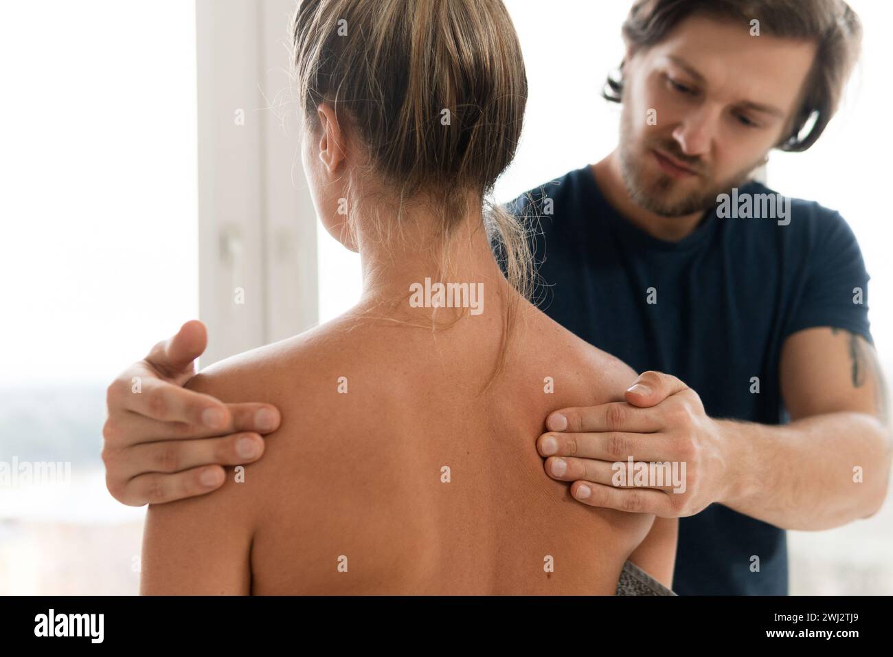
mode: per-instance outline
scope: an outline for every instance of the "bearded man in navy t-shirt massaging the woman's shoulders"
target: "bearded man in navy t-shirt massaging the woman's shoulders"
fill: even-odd
[[[622,102],[619,146],[511,207],[541,226],[543,310],[647,371],[629,403],[552,413],[538,451],[583,504],[681,518],[677,593],[785,594],[784,529],[876,512],[889,432],[853,233],[749,177],[772,147],[819,137],[859,24],[839,0],[643,0],[623,35],[606,91]],[[205,341],[184,324],[110,386],[120,501],[207,493],[278,425],[263,404],[178,387]],[[618,484],[618,461],[680,466],[682,485]]]

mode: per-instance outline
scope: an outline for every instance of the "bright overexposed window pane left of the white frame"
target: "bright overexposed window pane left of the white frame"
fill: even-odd
[[[71,464],[0,484],[0,594],[137,591],[105,388],[197,316],[195,61],[182,0],[0,8],[0,461]]]

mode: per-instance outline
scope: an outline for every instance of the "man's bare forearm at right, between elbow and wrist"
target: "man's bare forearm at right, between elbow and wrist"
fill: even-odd
[[[720,503],[784,529],[819,530],[867,518],[888,489],[887,428],[864,413],[789,425],[716,420],[730,446],[730,490]]]

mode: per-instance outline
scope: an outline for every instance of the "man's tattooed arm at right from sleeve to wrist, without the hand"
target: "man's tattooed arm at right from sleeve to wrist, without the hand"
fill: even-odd
[[[784,344],[780,378],[789,425],[718,421],[742,466],[718,501],[787,529],[828,529],[877,512],[891,442],[872,345],[842,329],[799,331]]]

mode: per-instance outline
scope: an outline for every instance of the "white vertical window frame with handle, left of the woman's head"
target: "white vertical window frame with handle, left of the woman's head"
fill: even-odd
[[[196,0],[203,366],[318,322],[316,215],[288,73],[294,11],[293,0]]]

